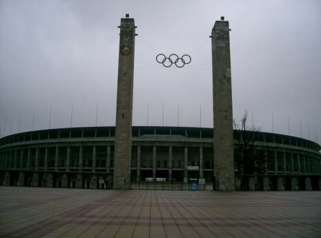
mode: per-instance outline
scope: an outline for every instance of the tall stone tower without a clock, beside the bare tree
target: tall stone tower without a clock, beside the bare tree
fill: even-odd
[[[215,189],[231,191],[234,181],[231,54],[228,21],[212,29],[214,176]]]

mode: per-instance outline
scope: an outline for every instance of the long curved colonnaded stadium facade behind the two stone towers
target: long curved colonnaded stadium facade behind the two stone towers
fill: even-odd
[[[129,188],[217,190],[213,128],[132,128]],[[287,135],[257,132],[266,172],[242,175],[235,190],[320,190],[320,145]],[[234,151],[237,154],[237,130]],[[115,127],[60,128],[0,139],[3,186],[113,188]],[[237,166],[235,166],[237,168]],[[197,179],[197,180],[196,180]]]

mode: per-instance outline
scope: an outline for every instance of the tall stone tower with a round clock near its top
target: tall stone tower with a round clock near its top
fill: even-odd
[[[135,22],[121,19],[117,82],[117,110],[114,158],[114,189],[129,189],[133,121],[133,79],[135,55]]]

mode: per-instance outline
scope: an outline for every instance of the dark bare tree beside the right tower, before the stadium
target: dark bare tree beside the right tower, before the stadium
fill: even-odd
[[[244,115],[237,123],[233,120],[235,130],[235,166],[243,175],[253,175],[255,173],[266,172],[266,152],[262,148],[262,142],[257,141],[260,127],[248,126],[249,112],[244,111]],[[269,149],[269,148],[268,148]]]

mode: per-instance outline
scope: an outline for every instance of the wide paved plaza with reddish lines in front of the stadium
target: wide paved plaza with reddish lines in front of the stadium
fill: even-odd
[[[0,237],[321,237],[321,192],[0,187]]]

